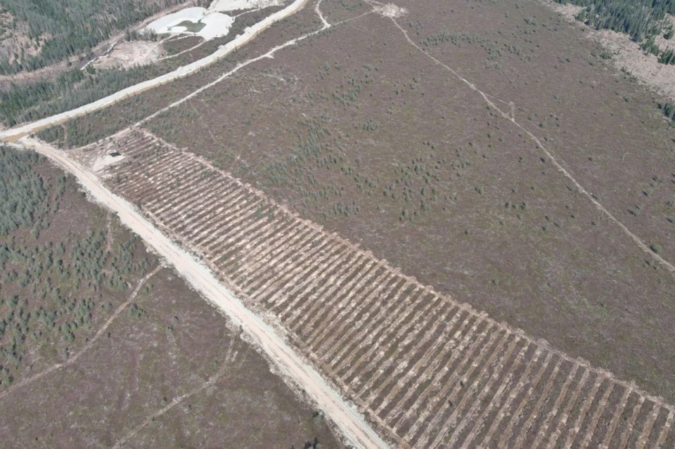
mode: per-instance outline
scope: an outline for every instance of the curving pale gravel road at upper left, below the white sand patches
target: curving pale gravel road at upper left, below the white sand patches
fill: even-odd
[[[184,65],[183,67],[179,67],[173,72],[169,72],[155,79],[148,79],[148,81],[144,81],[134,86],[127,87],[127,89],[122,89],[121,91],[113,93],[113,95],[94,101],[94,103],[89,103],[88,105],[80,106],[79,108],[75,108],[67,112],[62,112],[61,114],[53,115],[51,117],[46,117],[45,119],[37,120],[37,122],[32,122],[30,124],[17,126],[13,129],[6,129],[4,131],[0,131],[0,141],[8,141],[8,142],[16,141],[20,137],[32,134],[35,131],[39,131],[40,129],[46,128],[47,126],[63,123],[68,119],[72,119],[73,117],[78,117],[79,115],[84,115],[94,110],[105,108],[106,106],[112,105],[117,101],[124,100],[124,98],[134,96],[137,93],[147,91],[148,89],[160,86],[161,84],[165,84],[167,82],[172,82],[175,79],[186,77],[189,74],[197,72],[203,67],[211,65],[212,63],[215,63],[217,60],[224,58],[225,56],[229,55],[229,53],[232,53],[240,46],[247,44],[252,39],[255,39],[255,37],[259,34],[259,32],[262,32],[263,30],[270,27],[279,20],[285,19],[288,16],[297,13],[297,11],[300,11],[305,4],[307,4],[307,0],[293,1],[292,4],[286,6],[281,11],[277,11],[276,13],[264,18],[264,20],[257,22],[252,27],[246,28],[246,30],[244,30],[244,32],[240,34],[238,37],[236,37],[236,39],[233,39],[224,46],[221,46],[217,51],[211,53],[209,56],[202,58],[200,60],[196,60],[194,63]]]

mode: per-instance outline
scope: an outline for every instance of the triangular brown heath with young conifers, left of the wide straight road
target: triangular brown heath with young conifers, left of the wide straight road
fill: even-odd
[[[340,447],[239,328],[74,178],[5,146],[0,171],[3,446]]]

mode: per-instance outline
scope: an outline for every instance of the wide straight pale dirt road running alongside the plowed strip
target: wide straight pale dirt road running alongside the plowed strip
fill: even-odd
[[[167,263],[170,263],[195,289],[224,311],[240,325],[244,332],[259,344],[276,364],[276,367],[307,392],[330,419],[340,428],[349,442],[358,448],[387,448],[388,445],[368,425],[364,417],[349,405],[338,391],[329,386],[313,367],[286,344],[276,332],[255,313],[249,311],[214,275],[190,254],[169,240],[152,223],[143,218],[136,208],[126,200],[110,192],[98,177],[78,162],[70,160],[60,150],[32,138],[20,142],[63,167],[75,176],[92,197],[104,207],[117,212],[120,221],[138,234],[146,245],[155,249]]]

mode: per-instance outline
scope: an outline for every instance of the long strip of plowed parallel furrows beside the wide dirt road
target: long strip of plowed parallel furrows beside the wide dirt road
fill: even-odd
[[[414,448],[668,447],[660,398],[421,285],[137,129],[110,188],[203,256],[385,434]],[[96,150],[97,148],[94,148]]]

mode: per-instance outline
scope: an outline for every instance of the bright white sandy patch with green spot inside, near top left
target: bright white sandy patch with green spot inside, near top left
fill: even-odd
[[[204,24],[205,26],[198,32],[191,32],[185,26],[179,26],[183,22],[193,22],[194,24]],[[216,11],[210,11],[206,8],[185,8],[177,13],[167,14],[154,22],[151,22],[146,30],[151,30],[157,34],[193,34],[203,37],[206,40],[214,37],[226,36],[234,19],[231,16]]]

